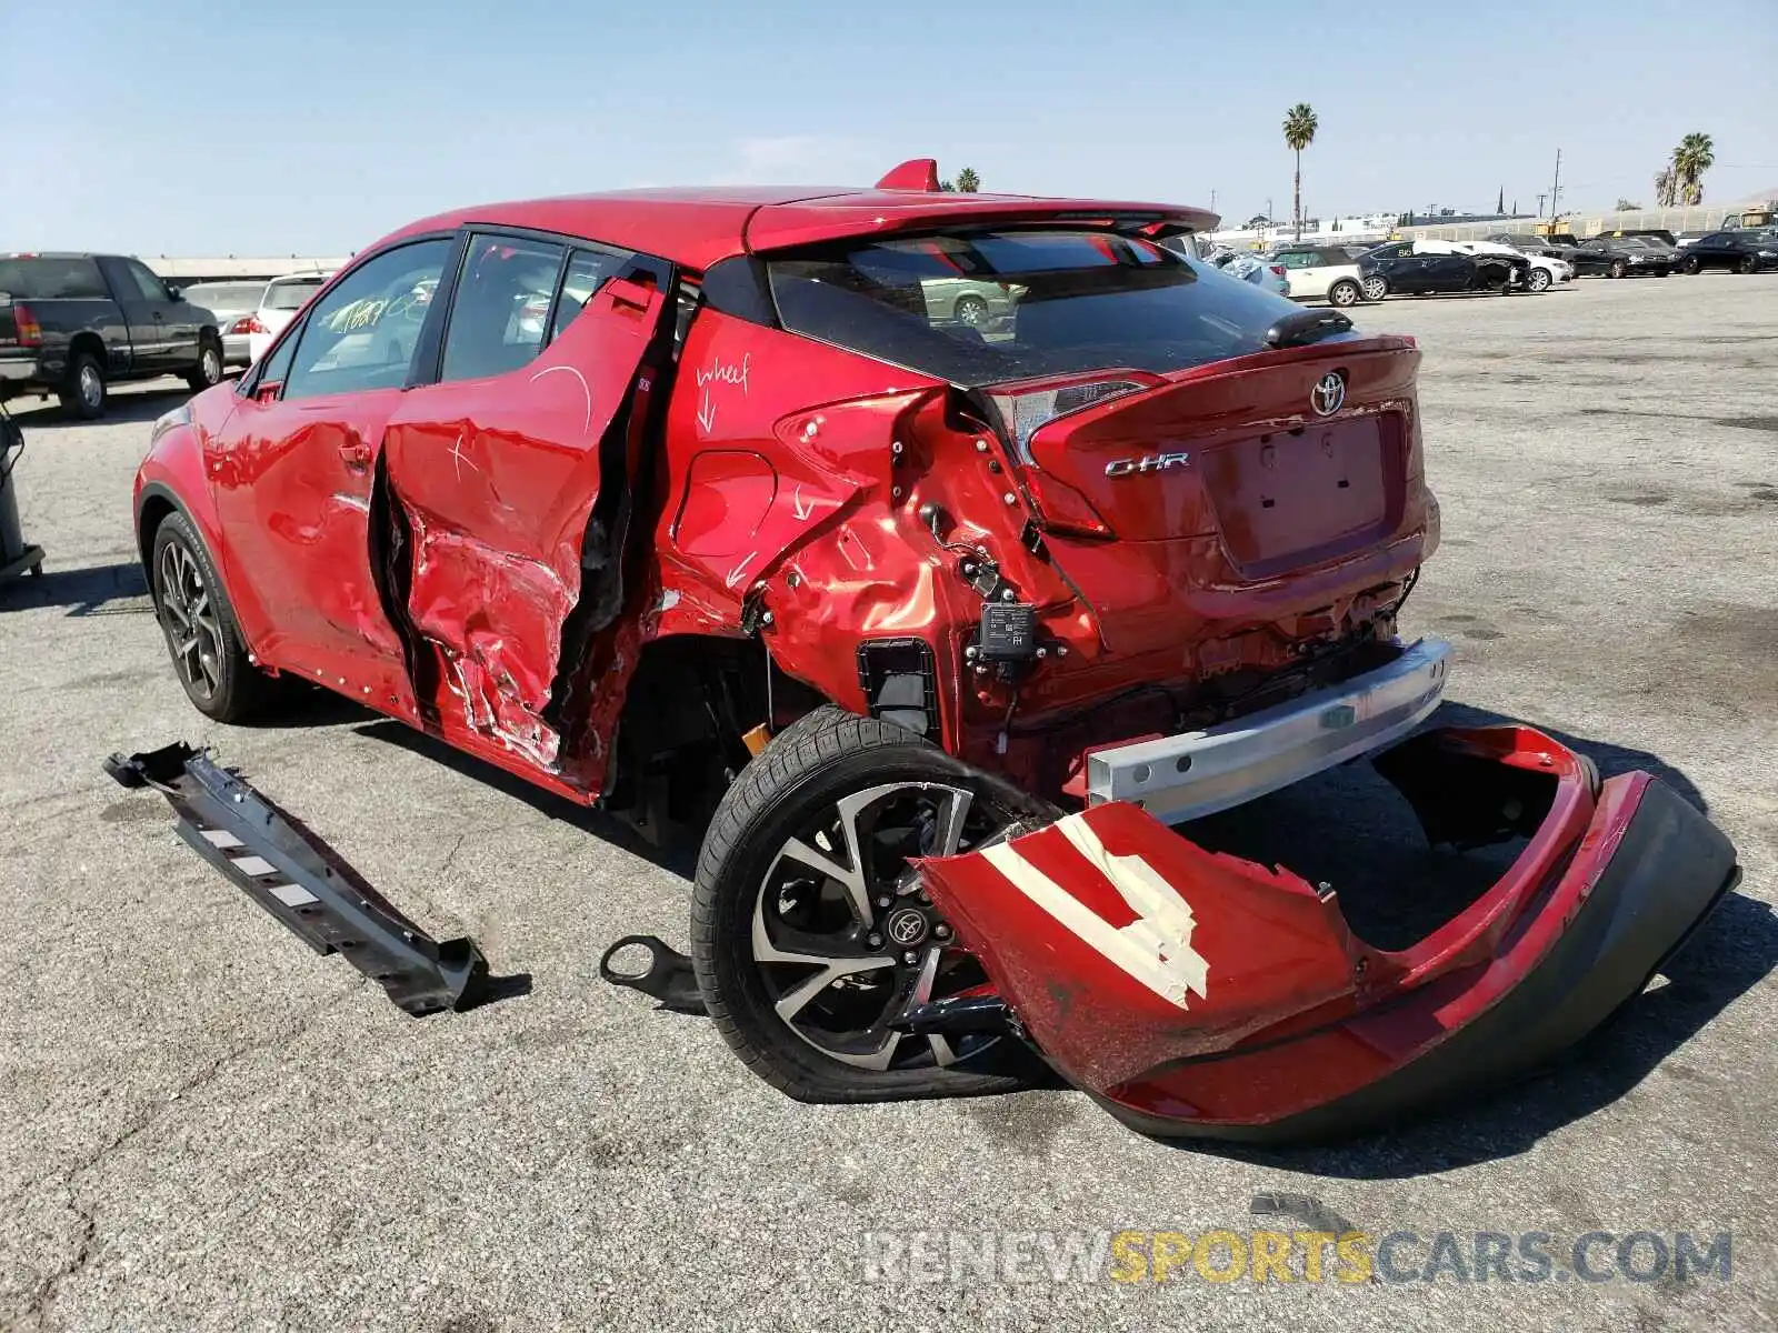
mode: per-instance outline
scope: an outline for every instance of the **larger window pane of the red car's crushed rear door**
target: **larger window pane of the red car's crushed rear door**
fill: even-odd
[[[444,331],[441,382],[505,375],[544,350],[565,245],[471,236]]]

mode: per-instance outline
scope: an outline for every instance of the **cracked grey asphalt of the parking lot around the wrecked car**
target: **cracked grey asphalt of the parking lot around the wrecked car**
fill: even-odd
[[[1275,1153],[1161,1146],[1063,1090],[789,1102],[708,1022],[597,981],[617,935],[685,940],[683,857],[626,850],[343,704],[284,729],[190,709],[128,519],[148,423],[181,395],[126,389],[101,425],[21,414],[23,523],[48,565],[0,594],[0,1322],[1771,1328],[1778,275],[1355,318],[1424,350],[1444,546],[1406,629],[1458,643],[1451,714],[1554,729],[1607,771],[1655,768],[1746,867],[1666,978],[1561,1068]],[[176,841],[158,796],[100,771],[180,738],[240,764],[434,935],[468,931],[496,970],[532,974],[532,994],[412,1020],[309,954]],[[1301,1230],[1252,1216],[1268,1193],[1419,1241],[1358,1283],[1213,1283],[1191,1262],[1118,1281],[1134,1265],[1115,1257],[1056,1281],[1017,1258],[1124,1228]],[[962,1233],[978,1262],[992,1233],[1001,1264],[953,1273],[932,1241],[871,1239],[919,1228]],[[1483,1264],[1478,1280],[1478,1230],[1515,1253],[1549,1233],[1554,1271],[1504,1281]],[[1677,1232],[1728,1232],[1732,1267],[1682,1280],[1641,1241],[1648,1281],[1595,1283],[1566,1264],[1588,1232],[1654,1232],[1670,1251]],[[1614,1246],[1595,1242],[1595,1273]],[[1437,1281],[1383,1280],[1428,1267]]]

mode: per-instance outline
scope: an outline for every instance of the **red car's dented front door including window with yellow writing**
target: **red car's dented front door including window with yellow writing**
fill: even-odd
[[[231,585],[274,666],[416,716],[404,645],[370,571],[384,428],[407,389],[453,238],[363,259],[244,384],[206,441]],[[436,338],[436,334],[434,334]]]

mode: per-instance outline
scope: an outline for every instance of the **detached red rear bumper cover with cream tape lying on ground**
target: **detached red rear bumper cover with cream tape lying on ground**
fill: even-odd
[[[1529,835],[1403,951],[1357,938],[1332,892],[1122,802],[921,873],[1070,1081],[1154,1134],[1273,1141],[1369,1129],[1545,1061],[1739,878],[1728,839],[1671,789],[1648,773],[1598,786],[1524,727],[1428,732],[1378,770],[1433,841]]]

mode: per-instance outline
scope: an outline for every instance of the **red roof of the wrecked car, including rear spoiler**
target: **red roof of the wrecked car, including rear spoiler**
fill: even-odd
[[[477,204],[421,219],[379,242],[509,226],[585,236],[704,270],[718,259],[846,236],[880,236],[946,224],[1141,220],[1166,231],[1209,231],[1200,208],[1108,199],[857,187],[702,187],[615,190]]]

